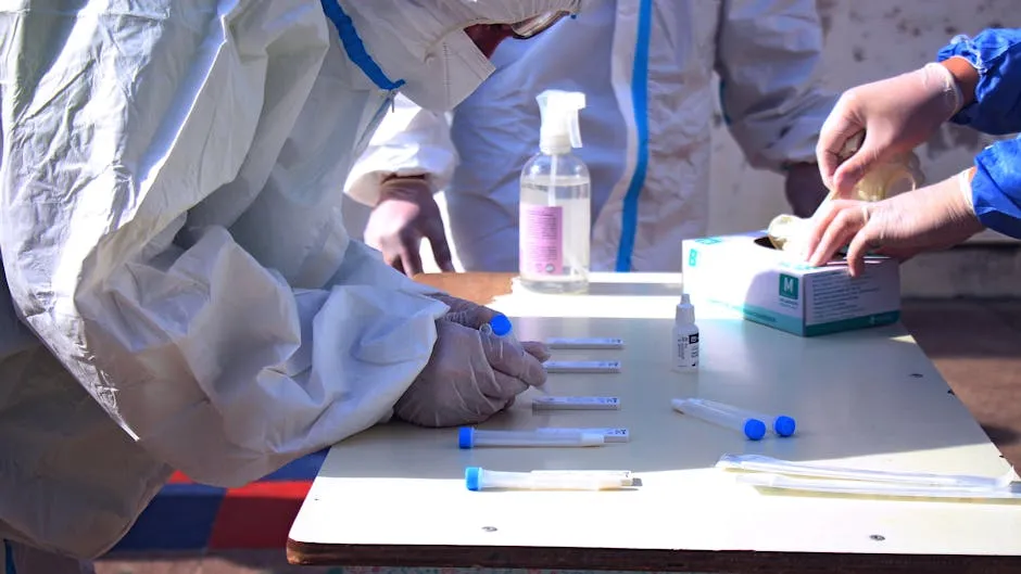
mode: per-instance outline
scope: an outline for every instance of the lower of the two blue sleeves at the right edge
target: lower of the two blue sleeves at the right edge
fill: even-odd
[[[1021,139],[998,141],[975,156],[971,199],[982,225],[1021,239]]]

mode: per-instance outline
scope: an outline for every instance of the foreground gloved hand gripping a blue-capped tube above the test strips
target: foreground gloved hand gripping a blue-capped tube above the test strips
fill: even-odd
[[[438,294],[450,305],[437,321],[432,357],[394,405],[394,416],[421,426],[480,423],[514,404],[529,386],[542,386],[550,358],[545,345],[513,341],[479,331],[496,311]]]

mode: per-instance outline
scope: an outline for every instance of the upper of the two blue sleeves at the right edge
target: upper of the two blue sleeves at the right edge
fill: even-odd
[[[950,122],[992,135],[1021,131],[1021,29],[990,28],[974,38],[956,36],[936,60],[953,56],[979,72],[975,101]]]

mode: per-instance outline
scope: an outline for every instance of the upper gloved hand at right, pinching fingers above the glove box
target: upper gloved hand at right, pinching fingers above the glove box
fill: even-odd
[[[849,197],[873,166],[917,148],[960,105],[954,75],[940,64],[847,90],[822,125],[816,145],[822,180],[836,197]],[[845,143],[861,131],[861,146],[841,163]]]

